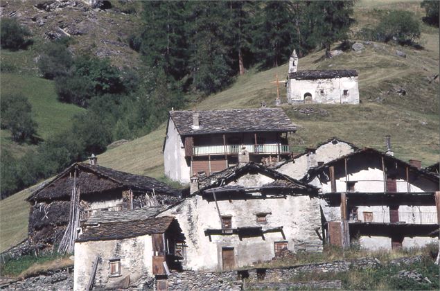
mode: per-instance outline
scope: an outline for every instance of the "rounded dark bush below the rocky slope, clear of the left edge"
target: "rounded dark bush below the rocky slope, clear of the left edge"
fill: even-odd
[[[62,42],[49,42],[38,60],[38,69],[46,79],[67,76],[73,58],[67,45]]]

